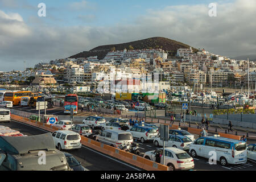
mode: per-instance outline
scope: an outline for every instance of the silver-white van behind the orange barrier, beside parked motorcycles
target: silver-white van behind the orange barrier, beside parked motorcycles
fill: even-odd
[[[100,135],[97,135],[96,141],[120,148],[122,145],[131,144],[133,135],[122,130],[104,130]]]

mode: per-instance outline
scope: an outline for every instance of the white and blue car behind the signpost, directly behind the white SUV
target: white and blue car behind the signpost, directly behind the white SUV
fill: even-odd
[[[163,140],[160,138],[155,138],[153,142],[155,146],[163,146]],[[191,143],[193,143],[193,141],[188,137],[169,135],[169,140],[168,142],[164,142],[164,146],[180,148],[181,150],[189,150],[189,145]]]

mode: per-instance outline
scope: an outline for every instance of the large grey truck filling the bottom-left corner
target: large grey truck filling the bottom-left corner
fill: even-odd
[[[55,148],[51,133],[1,136],[0,148],[0,171],[71,171],[64,153]]]

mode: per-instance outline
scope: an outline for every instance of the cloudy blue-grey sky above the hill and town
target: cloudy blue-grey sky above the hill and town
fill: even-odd
[[[218,55],[252,55],[255,17],[255,0],[0,0],[0,71],[154,36]]]

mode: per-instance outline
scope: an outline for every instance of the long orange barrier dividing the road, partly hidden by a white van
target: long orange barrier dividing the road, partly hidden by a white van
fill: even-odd
[[[60,130],[57,127],[46,125],[46,123],[30,121],[30,119],[23,118],[15,114],[11,114],[11,118],[16,121],[23,122],[31,126],[39,127],[41,129],[51,131],[51,132]],[[119,160],[123,160],[124,162],[137,166],[138,168],[146,169],[147,171],[167,171],[168,170],[168,167],[164,166],[163,164],[152,162],[151,160],[144,159],[141,156],[119,150],[118,148],[108,146],[104,143],[100,143],[95,140],[88,139],[82,136],[81,136],[81,140],[82,140],[82,144],[85,146],[93,148],[94,150],[97,150],[104,154],[113,156],[114,158],[117,158]]]

